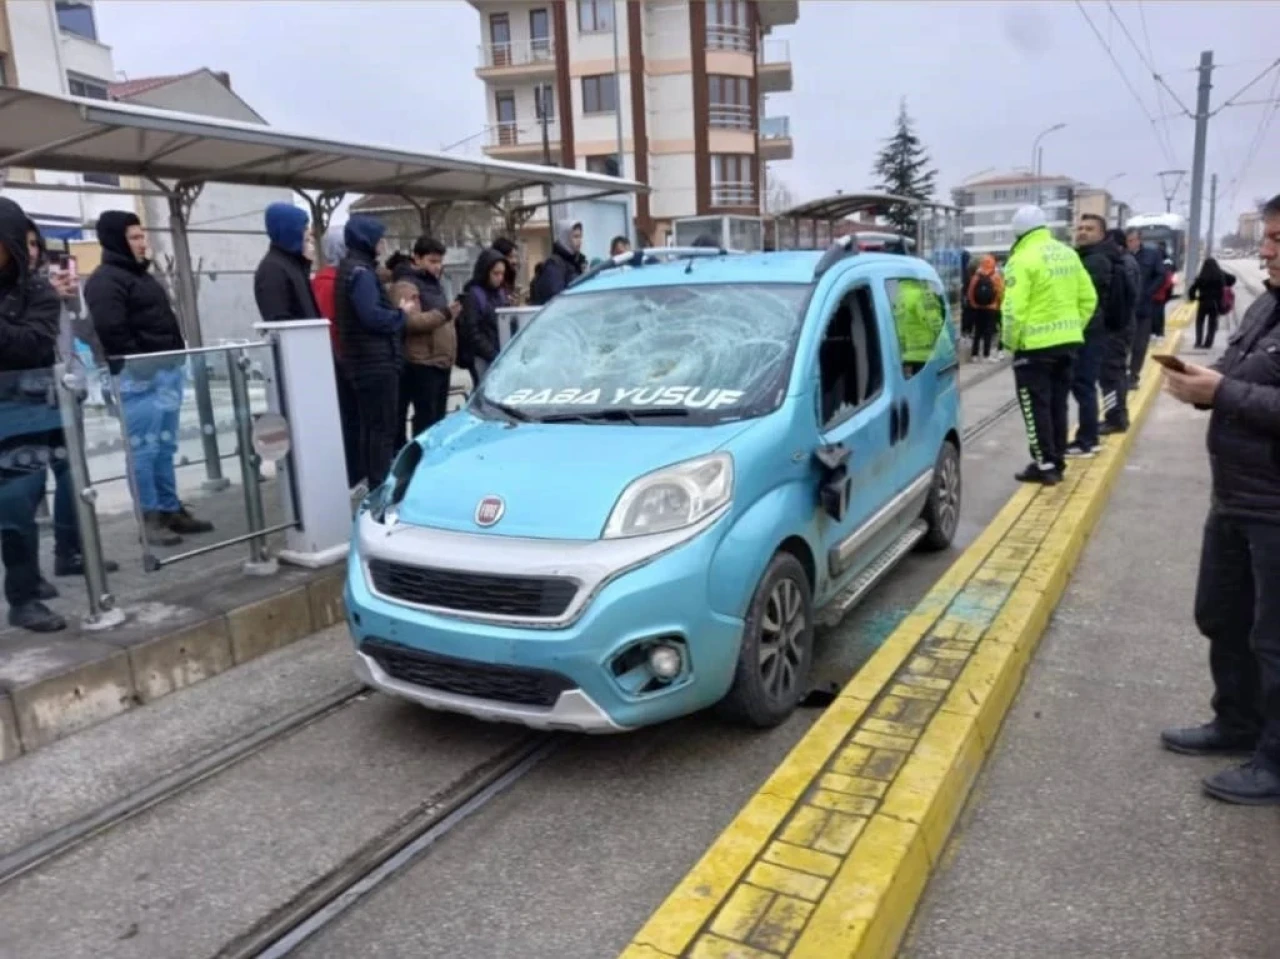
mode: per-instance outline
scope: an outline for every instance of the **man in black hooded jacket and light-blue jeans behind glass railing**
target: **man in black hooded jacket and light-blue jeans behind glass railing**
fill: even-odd
[[[111,373],[119,376],[146,540],[177,545],[184,535],[214,529],[178,499],[174,457],[186,357],[175,353],[187,344],[169,294],[151,275],[147,234],[138,218],[125,210],[108,210],[97,219],[97,242],[102,262],[84,286],[84,302]],[[154,359],[146,359],[151,355]]]

